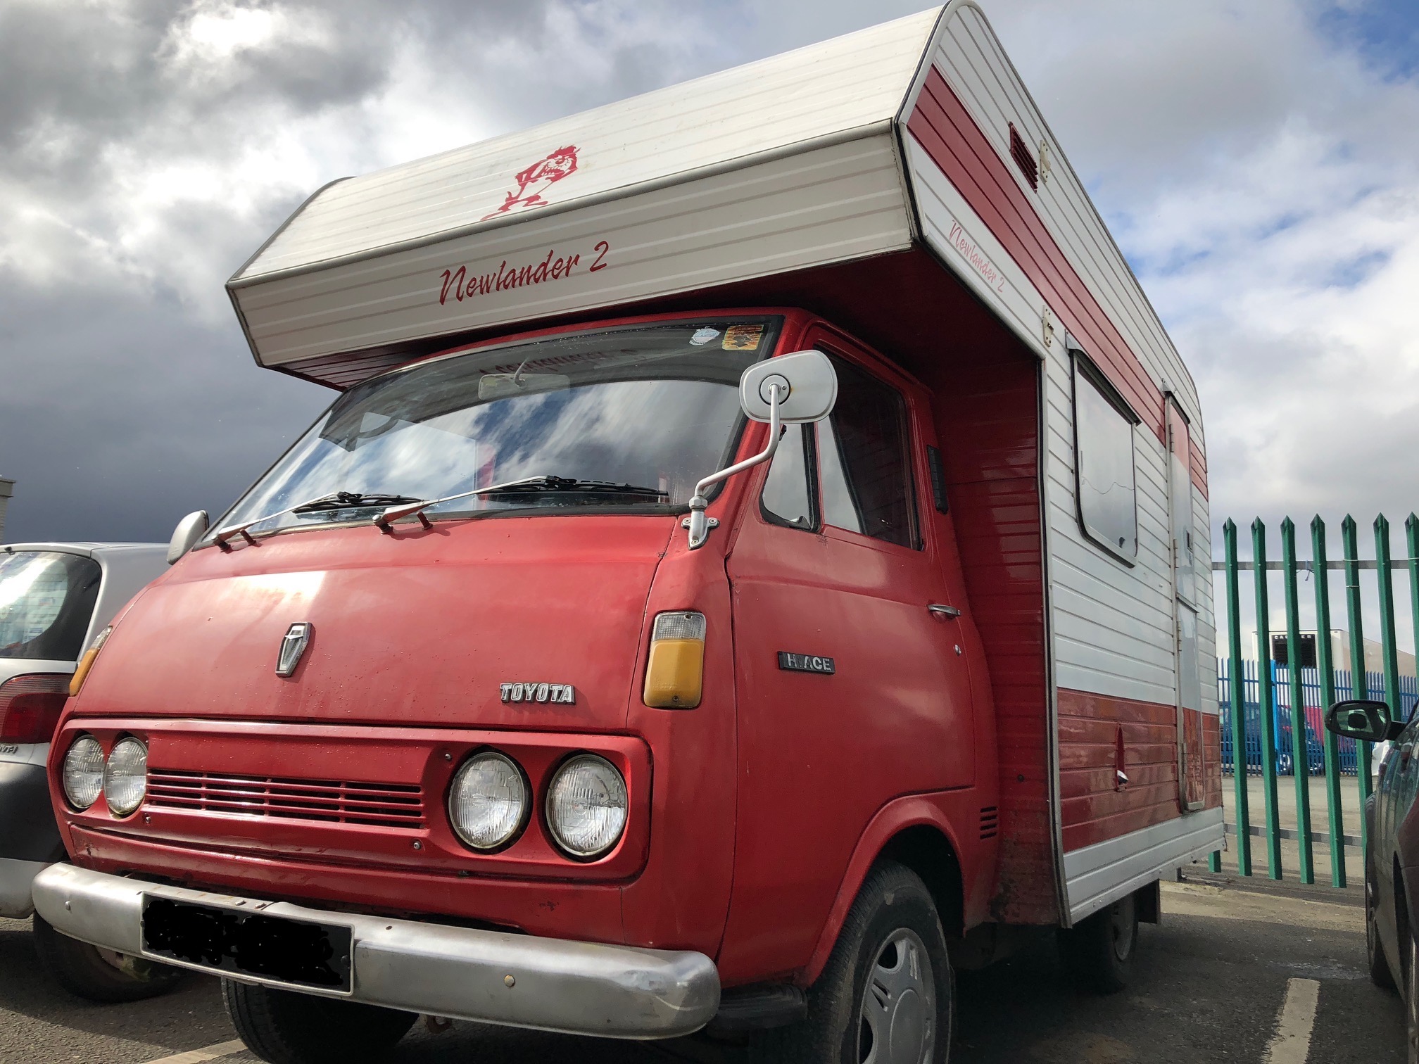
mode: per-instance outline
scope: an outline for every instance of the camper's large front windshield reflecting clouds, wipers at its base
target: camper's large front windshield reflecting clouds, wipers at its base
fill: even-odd
[[[768,316],[656,322],[387,373],[341,396],[214,532],[369,521],[397,501],[536,477],[424,514],[683,509],[732,457],[739,376],[776,329]]]

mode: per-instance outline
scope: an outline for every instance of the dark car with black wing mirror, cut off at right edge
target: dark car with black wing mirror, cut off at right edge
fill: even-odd
[[[1365,803],[1365,948],[1369,977],[1398,989],[1408,1016],[1409,1064],[1419,1064],[1419,714],[1392,721],[1386,702],[1337,702],[1325,715],[1337,735],[1391,741],[1375,793]]]

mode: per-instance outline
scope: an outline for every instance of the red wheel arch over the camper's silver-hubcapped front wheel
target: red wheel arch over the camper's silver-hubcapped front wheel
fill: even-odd
[[[951,821],[931,796],[912,794],[883,806],[857,840],[817,945],[803,969],[802,983],[810,986],[822,975],[853,901],[881,860],[898,861],[917,872],[931,891],[946,938],[959,938],[965,919],[959,854]]]

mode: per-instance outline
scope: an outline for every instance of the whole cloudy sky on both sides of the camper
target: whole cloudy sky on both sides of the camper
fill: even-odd
[[[315,187],[920,9],[0,0],[6,539],[166,539],[331,400],[223,291]],[[985,9],[1193,367],[1213,515],[1419,506],[1412,0]]]

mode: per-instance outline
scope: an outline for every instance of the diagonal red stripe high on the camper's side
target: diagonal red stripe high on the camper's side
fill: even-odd
[[[1162,392],[935,67],[927,74],[907,129],[990,227],[1144,424],[1162,440]]]

